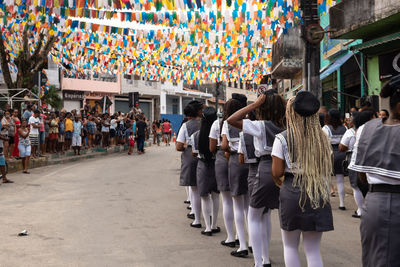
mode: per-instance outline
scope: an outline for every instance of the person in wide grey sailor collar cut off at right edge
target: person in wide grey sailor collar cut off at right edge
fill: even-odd
[[[364,267],[399,266],[400,251],[400,75],[380,93],[390,97],[389,118],[358,128],[349,169],[370,184],[361,216]]]

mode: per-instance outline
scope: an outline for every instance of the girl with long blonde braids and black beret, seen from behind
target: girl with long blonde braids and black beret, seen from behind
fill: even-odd
[[[279,215],[286,267],[300,267],[301,236],[307,265],[322,267],[322,233],[333,230],[332,148],[319,123],[319,107],[318,98],[307,91],[289,99],[287,130],[276,135],[272,147],[272,177],[281,187]]]

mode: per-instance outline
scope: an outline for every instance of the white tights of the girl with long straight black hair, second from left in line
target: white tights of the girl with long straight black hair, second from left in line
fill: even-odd
[[[206,232],[211,232],[212,229],[217,228],[217,218],[219,210],[219,194],[212,193],[201,197],[201,210],[203,211],[203,218],[206,224]]]

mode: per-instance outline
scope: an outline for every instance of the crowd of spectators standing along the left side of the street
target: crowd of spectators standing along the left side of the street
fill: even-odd
[[[126,114],[108,114],[88,106],[67,112],[30,103],[22,112],[7,104],[4,111],[0,110],[0,122],[0,171],[4,183],[12,182],[2,167],[10,160],[21,160],[23,173],[29,174],[30,158],[64,154],[71,149],[80,155],[81,149],[127,144],[132,154],[136,144],[138,154],[143,154],[151,126],[139,108]]]

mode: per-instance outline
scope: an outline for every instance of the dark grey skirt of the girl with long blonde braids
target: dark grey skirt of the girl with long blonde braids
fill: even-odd
[[[307,200],[304,211],[300,208],[300,190],[293,187],[293,176],[285,175],[285,180],[279,195],[279,215],[281,228],[286,231],[317,231],[333,230],[332,209],[329,203],[324,207],[313,209]]]

